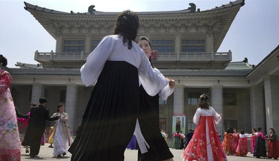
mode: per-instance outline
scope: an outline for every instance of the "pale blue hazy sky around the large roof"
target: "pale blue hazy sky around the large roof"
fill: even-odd
[[[234,0],[231,0],[234,1]],[[195,3],[200,10],[215,8],[230,1],[28,1],[48,9],[63,12],[87,12],[90,5],[97,11],[174,11]],[[34,52],[55,51],[55,39],[24,9],[24,1],[0,0],[0,54],[8,58],[8,67],[16,62],[37,64]],[[246,0],[237,13],[218,52],[232,51],[232,62],[248,58],[257,65],[279,44],[279,1]]]

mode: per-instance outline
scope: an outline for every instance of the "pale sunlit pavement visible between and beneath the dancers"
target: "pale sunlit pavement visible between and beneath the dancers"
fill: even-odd
[[[41,146],[40,149],[40,153],[38,156],[36,156],[35,158],[30,158],[30,156],[28,155],[29,153],[25,153],[25,148],[22,148],[22,155],[21,155],[21,160],[22,161],[29,161],[29,160],[44,160],[44,161],[48,161],[48,160],[56,160],[59,159],[59,161],[69,161],[71,158],[71,154],[67,153],[67,155],[63,156],[63,157],[54,157],[52,154],[53,148],[48,148],[49,144],[45,144],[44,146]],[[183,150],[176,150],[176,149],[170,149],[171,152],[174,155],[174,160],[177,161],[181,161],[182,159],[180,158]],[[137,150],[126,150],[125,151],[125,160],[124,161],[137,161],[137,154],[138,151]],[[265,160],[269,160],[271,161],[271,159],[258,159],[255,157],[252,157],[252,155],[250,153],[248,153],[248,155],[246,157],[240,157],[240,156],[228,156],[228,160],[229,161],[255,161],[255,160],[259,160],[259,161],[265,161]],[[89,160],[88,160],[89,161]],[[91,160],[90,160],[91,161]],[[101,161],[101,160],[96,160],[96,161]]]

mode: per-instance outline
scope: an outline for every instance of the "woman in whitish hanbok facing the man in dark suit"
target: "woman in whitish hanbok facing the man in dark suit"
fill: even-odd
[[[61,118],[54,121],[53,130],[53,156],[61,157],[61,155],[66,155],[69,148],[69,140],[72,143],[72,138],[70,134],[70,129],[67,124],[68,114],[64,112],[65,105],[59,104],[57,106],[57,113],[54,113],[52,117],[61,115]]]

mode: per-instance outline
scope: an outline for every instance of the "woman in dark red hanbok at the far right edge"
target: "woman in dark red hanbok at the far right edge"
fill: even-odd
[[[269,129],[269,133],[267,157],[277,159],[279,157],[279,142],[277,134],[275,133],[273,128]]]

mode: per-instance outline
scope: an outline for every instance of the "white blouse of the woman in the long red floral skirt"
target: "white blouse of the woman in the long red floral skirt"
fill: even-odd
[[[200,116],[213,116],[215,119],[215,124],[219,124],[219,122],[221,121],[221,116],[211,106],[209,107],[209,109],[202,109],[202,108],[197,109],[193,117],[193,122],[197,125],[199,124]]]

